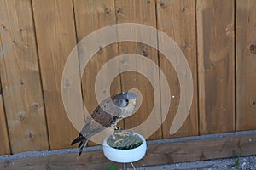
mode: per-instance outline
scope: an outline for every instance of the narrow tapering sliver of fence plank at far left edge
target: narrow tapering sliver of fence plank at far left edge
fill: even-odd
[[[0,38],[1,39],[1,38]],[[0,42],[1,44],[1,42]],[[2,48],[0,45],[0,59],[2,58]],[[0,80],[0,155],[10,154],[11,150],[9,148],[9,135],[6,123],[6,116],[3,107],[3,89]]]

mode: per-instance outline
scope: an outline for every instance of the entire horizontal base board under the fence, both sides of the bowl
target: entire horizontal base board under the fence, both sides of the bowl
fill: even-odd
[[[163,165],[183,161],[201,161],[255,154],[256,133],[222,134],[192,138],[166,139],[148,144],[146,156],[134,162],[135,167]],[[42,153],[43,154],[43,153]],[[49,156],[30,156],[20,159],[0,161],[1,169],[86,169],[108,168],[113,164],[120,168],[122,164],[108,161],[102,150],[86,151],[77,159],[76,153],[55,154]],[[128,165],[128,164],[127,164]],[[129,166],[129,165],[128,165]]]

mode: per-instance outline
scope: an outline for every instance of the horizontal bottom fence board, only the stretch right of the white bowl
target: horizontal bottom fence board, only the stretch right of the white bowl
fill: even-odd
[[[191,141],[148,145],[148,153],[137,166],[202,161],[216,158],[249,156],[255,149],[255,134],[213,137]]]

